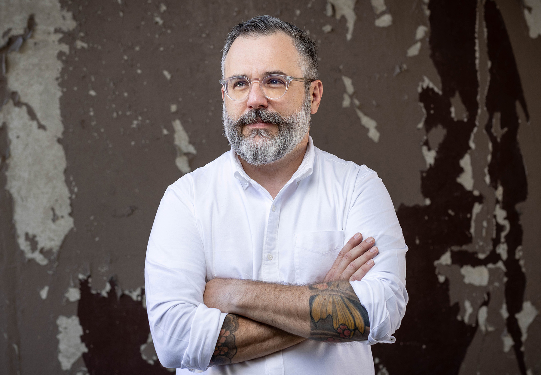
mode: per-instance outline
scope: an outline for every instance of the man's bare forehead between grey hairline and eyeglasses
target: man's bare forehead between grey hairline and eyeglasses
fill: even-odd
[[[236,38],[226,57],[226,77],[265,74],[302,75],[293,39],[282,32]]]

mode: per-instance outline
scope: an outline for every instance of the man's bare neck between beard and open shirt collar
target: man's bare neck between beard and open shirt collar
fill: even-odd
[[[291,179],[291,176],[299,169],[307,146],[308,134],[291,153],[270,164],[253,166],[240,157],[239,160],[250,179],[259,183],[274,199],[287,181]]]

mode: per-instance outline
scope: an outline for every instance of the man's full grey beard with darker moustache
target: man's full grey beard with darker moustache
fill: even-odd
[[[310,111],[311,101],[307,95],[301,109],[291,116],[282,117],[279,113],[258,108],[234,120],[229,116],[224,103],[223,130],[231,148],[242,160],[253,166],[265,165],[281,159],[299,145],[310,129]],[[278,134],[273,135],[267,129],[252,129],[250,134],[242,134],[245,125],[256,122],[278,126]]]

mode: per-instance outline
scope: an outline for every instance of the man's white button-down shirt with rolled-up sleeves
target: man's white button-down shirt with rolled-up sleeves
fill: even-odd
[[[379,248],[373,268],[351,282],[370,318],[367,341],[305,340],[208,367],[226,316],[203,304],[208,280],[318,282],[357,232],[373,236]],[[299,169],[273,199],[231,150],[169,186],[158,208],[145,265],[158,357],[177,374],[373,374],[367,344],[394,342],[406,310],[406,251],[391,198],[373,170],[321,151],[310,137]]]

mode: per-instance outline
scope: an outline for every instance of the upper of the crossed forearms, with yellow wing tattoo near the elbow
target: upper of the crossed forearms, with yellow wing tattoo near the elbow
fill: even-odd
[[[217,291],[222,294],[209,302],[210,306],[300,337],[344,342],[366,340],[370,333],[368,314],[349,281],[296,286],[251,280],[210,280],[205,294],[217,294]]]

